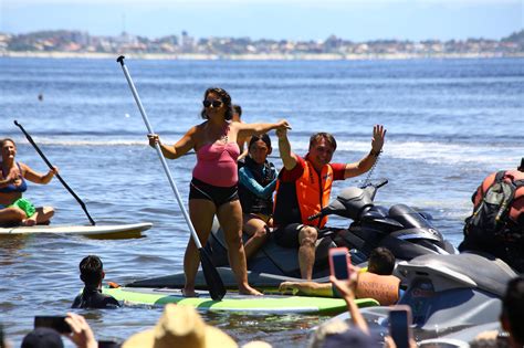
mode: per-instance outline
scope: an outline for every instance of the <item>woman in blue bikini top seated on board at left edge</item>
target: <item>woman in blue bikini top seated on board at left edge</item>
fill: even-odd
[[[17,145],[12,139],[0,141],[2,160],[0,162],[0,224],[34,225],[49,223],[54,214],[52,207],[35,208],[22,198],[28,190],[27,180],[45,184],[59,172],[56,167],[45,175],[39,173],[28,165],[15,161]]]

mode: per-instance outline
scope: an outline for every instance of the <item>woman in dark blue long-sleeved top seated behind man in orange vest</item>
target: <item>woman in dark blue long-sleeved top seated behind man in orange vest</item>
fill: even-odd
[[[239,169],[239,198],[242,205],[242,230],[250,239],[245,242],[245,257],[249,260],[268,240],[272,226],[273,191],[276,187],[276,170],[268,161],[271,154],[269,135],[252,136],[249,156]]]

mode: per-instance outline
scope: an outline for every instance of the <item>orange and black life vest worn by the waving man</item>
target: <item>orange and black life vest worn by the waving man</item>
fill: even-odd
[[[274,223],[283,225],[289,223],[303,223],[311,226],[323,228],[327,217],[322,220],[307,220],[329,203],[333,184],[333,168],[325,165],[321,175],[313,165],[304,159],[305,167],[302,176],[294,182],[276,182],[276,197],[274,205]]]

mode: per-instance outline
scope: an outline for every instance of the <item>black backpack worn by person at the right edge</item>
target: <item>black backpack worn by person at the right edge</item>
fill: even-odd
[[[524,180],[504,180],[505,171],[495,175],[493,183],[484,192],[474,208],[473,214],[465,219],[464,235],[480,243],[514,241],[523,236],[524,219],[509,219],[515,191],[524,186]],[[473,198],[480,194],[476,191]]]

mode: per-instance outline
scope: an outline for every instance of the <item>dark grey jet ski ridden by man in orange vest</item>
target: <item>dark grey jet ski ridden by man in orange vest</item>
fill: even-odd
[[[374,203],[377,190],[388,180],[370,182],[365,187],[349,187],[318,214],[338,215],[352,219],[347,229],[325,229],[321,231],[315,251],[313,281],[327,282],[329,275],[328,250],[346,246],[352,254],[352,263],[364,266],[369,253],[377,246],[389,249],[398,261],[411,260],[419,255],[455,254],[454,246],[431,224],[431,217],[418,212],[406,204],[391,207]],[[237,282],[228,263],[228,252],[222,230],[216,221],[206,251],[218,267],[228,288],[235,288]],[[277,245],[270,235],[268,242],[248,261],[248,281],[260,289],[277,288],[284,281],[300,281],[297,250]],[[136,287],[181,287],[184,273],[133,282]],[[197,288],[206,288],[201,271],[197,274]]]

